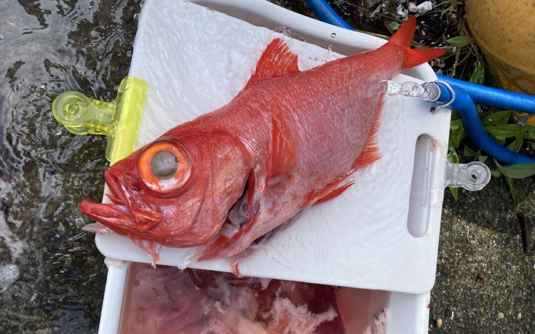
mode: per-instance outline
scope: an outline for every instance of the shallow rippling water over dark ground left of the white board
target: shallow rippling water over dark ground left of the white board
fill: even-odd
[[[0,2],[0,332],[97,327],[106,268],[78,204],[102,196],[105,138],[68,133],[51,104],[67,90],[115,97],[139,11],[135,0]]]

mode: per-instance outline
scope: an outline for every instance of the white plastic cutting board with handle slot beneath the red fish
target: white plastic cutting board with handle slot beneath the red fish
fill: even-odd
[[[263,0],[194,2],[215,10],[180,0],[147,0],[142,8],[129,72],[149,84],[138,146],[230,102],[266,45],[282,36],[269,28],[289,27],[292,35],[309,42],[285,37],[299,55],[301,70],[341,57],[326,50],[328,45],[350,54],[385,43]],[[428,65],[407,74],[436,79]],[[394,80],[420,81],[406,75]],[[431,290],[444,191],[446,157],[440,143],[447,143],[450,115],[431,114],[430,106],[417,99],[386,97],[378,133],[384,157],[357,172],[355,185],[341,197],[311,208],[242,262],[241,273],[410,293]],[[415,164],[415,143],[422,134],[438,142],[429,144],[429,137],[418,141],[422,150]],[[418,172],[411,190],[413,166]],[[408,221],[413,234],[423,236],[412,236]],[[97,235],[96,244],[106,257],[151,262],[130,239],[113,233]],[[186,254],[187,249],[163,247],[159,263],[180,265]],[[221,259],[190,267],[230,271],[227,260]]]

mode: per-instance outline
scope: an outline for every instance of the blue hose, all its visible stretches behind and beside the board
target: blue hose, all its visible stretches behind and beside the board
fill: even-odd
[[[305,0],[305,3],[316,14],[318,19],[334,26],[354,30],[325,0]],[[485,151],[489,156],[505,162],[505,164],[535,163],[535,159],[522,156],[522,154],[513,152],[494,142],[483,128],[474,104],[474,102],[477,102],[535,114],[535,96],[485,87],[441,74],[437,74],[437,77],[439,80],[449,83],[455,91],[456,98],[451,107],[458,111],[468,135],[480,149]],[[446,103],[451,99],[452,95],[444,85],[438,84],[441,88],[438,102]]]

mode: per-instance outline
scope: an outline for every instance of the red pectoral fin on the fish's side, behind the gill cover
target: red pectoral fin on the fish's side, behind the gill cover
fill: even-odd
[[[267,161],[268,179],[288,174],[297,162],[297,142],[292,131],[289,112],[283,102],[274,98],[271,106],[271,154]]]

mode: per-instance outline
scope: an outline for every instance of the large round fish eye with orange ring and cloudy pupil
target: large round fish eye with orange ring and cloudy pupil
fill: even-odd
[[[141,153],[137,161],[141,179],[152,190],[170,192],[189,179],[191,164],[187,153],[172,143],[156,143]]]

